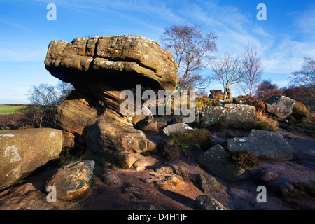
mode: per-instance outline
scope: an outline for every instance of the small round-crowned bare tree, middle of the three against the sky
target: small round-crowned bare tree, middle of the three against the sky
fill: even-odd
[[[218,58],[212,65],[214,80],[218,80],[224,89],[224,100],[227,97],[228,89],[244,78],[244,64],[241,56],[233,56],[230,52],[225,52],[224,56]]]

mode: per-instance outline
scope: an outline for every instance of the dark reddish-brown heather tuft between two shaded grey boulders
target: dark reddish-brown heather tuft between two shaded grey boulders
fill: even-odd
[[[234,163],[237,167],[246,169],[257,165],[257,157],[250,151],[233,151],[225,155],[227,160]]]

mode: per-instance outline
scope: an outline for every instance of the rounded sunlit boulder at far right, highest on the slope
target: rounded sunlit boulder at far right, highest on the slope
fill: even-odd
[[[281,95],[274,95],[265,101],[266,110],[281,119],[290,116],[294,104],[294,99]]]

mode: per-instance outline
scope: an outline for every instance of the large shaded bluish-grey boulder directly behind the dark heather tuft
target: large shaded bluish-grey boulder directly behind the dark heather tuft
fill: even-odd
[[[293,159],[293,148],[279,132],[251,130],[248,137],[228,139],[229,151],[251,151],[258,158],[274,161]]]

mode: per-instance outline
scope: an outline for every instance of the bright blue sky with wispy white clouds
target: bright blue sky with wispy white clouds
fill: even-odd
[[[55,3],[57,20],[48,21],[48,3]],[[267,20],[258,21],[258,3],[267,6]],[[133,34],[160,43],[165,27],[198,24],[214,31],[218,53],[239,54],[251,41],[267,66],[262,79],[279,87],[304,57],[315,58],[315,1],[216,0],[0,0],[0,104],[23,104],[33,85],[55,85],[44,60],[52,40]],[[210,72],[210,70],[205,70]],[[210,89],[222,89],[211,83]],[[233,94],[239,94],[232,89]]]

